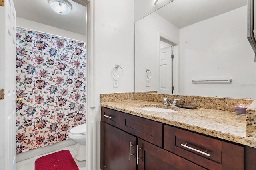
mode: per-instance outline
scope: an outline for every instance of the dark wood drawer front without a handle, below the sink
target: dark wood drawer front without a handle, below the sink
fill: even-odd
[[[120,129],[159,147],[163,145],[162,123],[123,113]]]

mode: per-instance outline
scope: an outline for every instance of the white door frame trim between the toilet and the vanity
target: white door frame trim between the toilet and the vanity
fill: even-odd
[[[95,104],[95,1],[87,3],[86,51],[86,170],[96,170],[96,104]]]

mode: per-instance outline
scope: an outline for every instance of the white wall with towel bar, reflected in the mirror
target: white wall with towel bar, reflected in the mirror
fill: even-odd
[[[243,6],[180,29],[180,94],[255,98],[256,63],[246,26]],[[232,83],[192,83],[221,77],[232,78]]]

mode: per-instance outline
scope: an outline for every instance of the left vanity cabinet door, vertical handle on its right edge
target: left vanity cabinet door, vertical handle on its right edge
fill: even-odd
[[[136,137],[101,121],[102,170],[136,170]]]

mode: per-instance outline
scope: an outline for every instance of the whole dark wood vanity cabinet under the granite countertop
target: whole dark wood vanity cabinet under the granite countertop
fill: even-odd
[[[102,107],[102,170],[253,170],[256,150]]]

